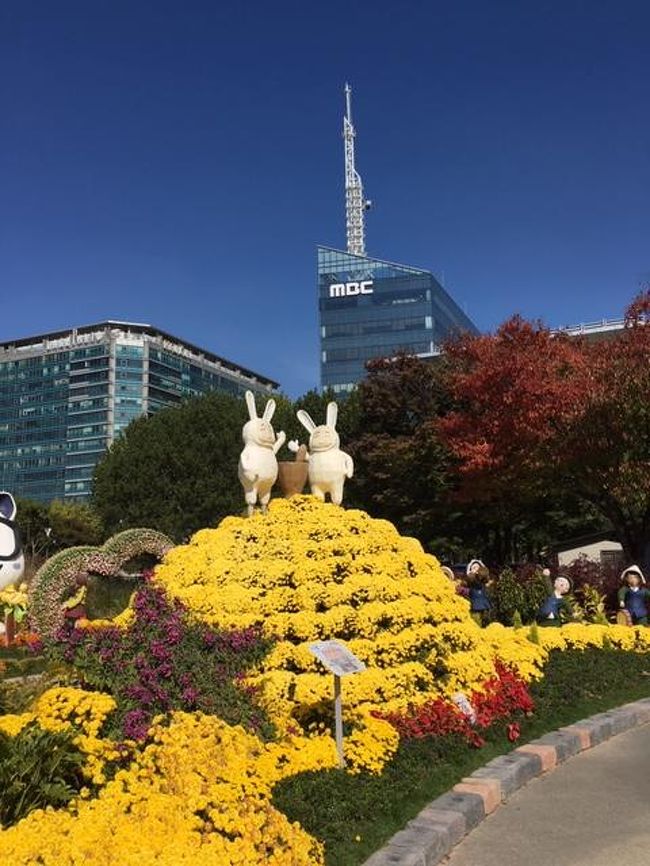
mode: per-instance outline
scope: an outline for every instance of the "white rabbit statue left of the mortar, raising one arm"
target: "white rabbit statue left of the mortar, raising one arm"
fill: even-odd
[[[257,417],[255,397],[252,391],[246,391],[246,405],[250,420],[244,424],[242,430],[244,450],[239,457],[237,474],[244,488],[244,497],[250,516],[258,500],[262,506],[262,511],[266,511],[266,506],[271,498],[271,488],[278,477],[278,461],[275,455],[284,444],[286,435],[283,431],[278,434],[276,439],[273,427],[271,427],[271,418],[275,412],[275,400],[267,400],[261,418]]]

